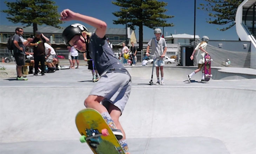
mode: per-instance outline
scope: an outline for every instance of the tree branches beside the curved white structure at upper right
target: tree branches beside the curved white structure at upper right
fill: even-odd
[[[209,18],[206,22],[216,25],[227,25],[221,31],[225,31],[235,25],[236,10],[242,0],[205,0],[207,4],[200,4],[198,9],[208,11]]]

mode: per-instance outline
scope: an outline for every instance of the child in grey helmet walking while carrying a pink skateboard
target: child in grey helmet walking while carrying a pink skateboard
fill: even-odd
[[[193,71],[192,73],[190,73],[189,75],[187,75],[188,78],[188,82],[190,83],[190,79],[193,75],[195,75],[197,72],[201,71],[202,67],[204,66],[204,56],[207,54],[208,52],[206,51],[206,46],[207,46],[207,42],[209,41],[209,38],[207,36],[203,36],[202,37],[202,42],[197,44],[196,48],[194,49],[192,55],[190,56],[190,59],[193,60],[194,59],[194,55],[195,52],[197,51],[197,55],[196,55],[196,61],[197,61],[197,66],[198,68]],[[204,69],[203,69],[203,73],[202,73],[202,79],[201,82],[204,81]]]

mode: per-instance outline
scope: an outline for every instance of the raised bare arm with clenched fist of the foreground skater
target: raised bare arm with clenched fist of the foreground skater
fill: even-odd
[[[100,38],[103,38],[106,34],[107,24],[102,20],[99,20],[90,16],[82,15],[79,13],[75,13],[69,9],[63,10],[60,13],[60,15],[61,15],[60,20],[62,21],[78,20],[78,21],[85,22],[90,26],[95,27],[96,28],[95,33]]]

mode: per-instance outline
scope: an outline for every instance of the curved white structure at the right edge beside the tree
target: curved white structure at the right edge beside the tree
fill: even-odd
[[[256,69],[256,40],[255,37],[248,30],[247,26],[243,23],[243,8],[249,8],[255,0],[244,0],[237,8],[236,11],[236,33],[241,41],[251,41],[251,68]]]

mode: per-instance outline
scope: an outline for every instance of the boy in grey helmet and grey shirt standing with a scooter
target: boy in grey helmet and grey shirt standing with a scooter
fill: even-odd
[[[167,45],[166,45],[166,41],[164,38],[161,37],[162,34],[162,30],[160,28],[156,28],[154,30],[154,34],[156,37],[152,38],[149,42],[148,42],[148,47],[147,47],[147,56],[149,56],[149,47],[152,48],[151,50],[151,54],[155,56],[156,60],[155,60],[155,66],[156,66],[156,77],[157,77],[157,82],[158,84],[160,84],[160,80],[159,80],[159,67],[160,67],[160,71],[161,71],[161,85],[164,85],[163,82],[163,66],[164,66],[164,56],[166,54],[166,50],[167,50]]]

